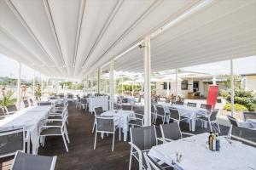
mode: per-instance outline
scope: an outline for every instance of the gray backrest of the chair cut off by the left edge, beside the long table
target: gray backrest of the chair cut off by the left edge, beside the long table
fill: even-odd
[[[0,158],[15,155],[17,150],[25,150],[25,132],[16,128],[0,132]]]

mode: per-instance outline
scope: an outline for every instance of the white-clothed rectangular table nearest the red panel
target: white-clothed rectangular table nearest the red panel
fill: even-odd
[[[169,108],[176,108],[179,114],[182,116],[188,117],[190,122],[191,122],[191,131],[195,131],[195,122],[196,122],[196,116],[197,115],[206,115],[207,110],[198,108],[198,107],[190,107],[187,105],[171,105],[171,104],[157,104],[157,105],[162,105],[165,109],[165,111],[169,112]]]

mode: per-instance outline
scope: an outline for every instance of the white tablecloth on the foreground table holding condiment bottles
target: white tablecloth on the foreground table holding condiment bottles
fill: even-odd
[[[256,169],[256,148],[226,139],[220,140],[220,151],[207,149],[208,133],[154,146],[148,155],[172,165],[176,153],[182,154],[179,165],[184,170]],[[250,168],[251,167],[251,168]]]

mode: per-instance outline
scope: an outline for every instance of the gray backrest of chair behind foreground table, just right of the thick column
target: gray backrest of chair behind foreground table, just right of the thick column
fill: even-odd
[[[182,133],[177,122],[160,125],[163,139],[177,140],[182,138]]]

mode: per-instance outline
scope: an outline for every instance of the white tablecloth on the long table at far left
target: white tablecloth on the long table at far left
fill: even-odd
[[[44,125],[49,115],[51,105],[29,107],[17,111],[14,115],[0,120],[0,130],[8,130],[16,127],[24,127],[30,133],[32,141],[32,153],[36,153],[38,147],[38,131]]]

